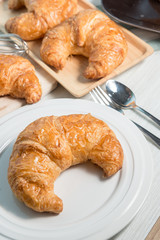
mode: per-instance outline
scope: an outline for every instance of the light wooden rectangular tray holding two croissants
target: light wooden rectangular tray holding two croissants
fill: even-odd
[[[79,10],[95,8],[94,5],[85,0],[78,1]],[[4,26],[5,22],[15,15],[19,15],[25,9],[19,11],[11,11],[7,7],[7,1],[0,4],[0,24]],[[41,40],[28,42],[29,56],[33,58],[41,67],[43,67],[57,82],[66,88],[73,96],[81,97],[86,95],[91,89],[103,84],[106,80],[126,71],[135,64],[139,63],[147,56],[153,53],[150,45],[142,41],[140,38],[122,28],[128,42],[128,55],[125,61],[116,68],[111,74],[100,80],[88,80],[83,77],[83,72],[88,65],[87,58],[83,56],[72,56],[68,59],[65,68],[56,71],[54,68],[47,66],[40,58]]]

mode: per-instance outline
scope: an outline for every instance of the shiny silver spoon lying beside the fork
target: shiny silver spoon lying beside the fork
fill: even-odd
[[[109,80],[106,83],[106,91],[110,99],[121,108],[137,109],[140,112],[146,114],[154,122],[160,126],[160,120],[151,115],[149,112],[143,108],[137,106],[136,97],[134,93],[124,84],[117,82],[115,80]]]

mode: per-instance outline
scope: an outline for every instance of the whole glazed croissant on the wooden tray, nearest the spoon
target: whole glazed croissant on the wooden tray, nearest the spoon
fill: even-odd
[[[127,43],[113,21],[104,13],[89,9],[49,30],[43,39],[41,57],[56,69],[62,69],[72,54],[89,57],[84,76],[98,79],[123,62]]]

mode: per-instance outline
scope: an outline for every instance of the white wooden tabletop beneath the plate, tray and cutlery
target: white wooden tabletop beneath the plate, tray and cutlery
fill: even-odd
[[[99,0],[90,0],[100,7]],[[139,29],[131,31],[140,38],[151,44],[155,52],[146,60],[119,75],[115,79],[129,86],[137,97],[137,104],[160,119],[160,34],[151,33]],[[104,88],[104,86],[102,86]],[[45,96],[43,100],[54,98],[74,98],[62,86],[58,87]],[[92,100],[90,94],[83,99]],[[140,125],[160,137],[160,128],[153,124],[142,114],[134,113],[131,110],[125,111],[126,116],[135,120]],[[0,120],[1,122],[1,120]],[[148,141],[149,142],[149,141]],[[160,216],[160,151],[149,142],[154,161],[154,177],[150,193],[133,221],[112,239],[115,240],[144,240]],[[160,239],[160,221],[148,235],[147,240]],[[7,239],[0,235],[0,239]]]

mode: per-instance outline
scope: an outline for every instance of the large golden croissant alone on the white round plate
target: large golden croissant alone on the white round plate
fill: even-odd
[[[60,213],[63,203],[53,191],[55,179],[70,166],[87,160],[100,166],[106,176],[122,167],[122,147],[106,123],[90,114],[43,117],[18,136],[8,181],[28,207]]]

